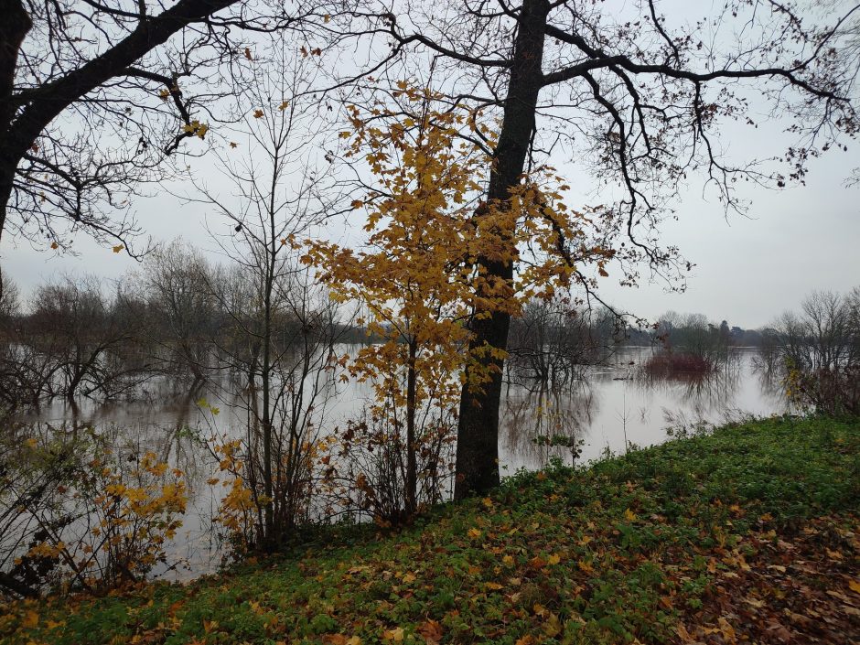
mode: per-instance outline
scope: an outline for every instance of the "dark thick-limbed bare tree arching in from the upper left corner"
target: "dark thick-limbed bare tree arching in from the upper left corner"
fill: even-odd
[[[138,231],[129,208],[141,185],[166,177],[163,162],[183,142],[231,118],[219,99],[253,81],[254,41],[288,32],[296,49],[326,48],[348,9],[349,0],[289,9],[274,0],[4,0],[0,235],[65,247],[84,229],[123,242]]]

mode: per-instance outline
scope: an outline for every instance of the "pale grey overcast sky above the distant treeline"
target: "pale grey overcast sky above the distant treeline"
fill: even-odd
[[[732,126],[725,129],[721,144],[733,156],[749,158],[778,155],[790,145],[790,138],[778,130]],[[806,186],[779,191],[747,186],[742,193],[749,202],[747,218],[736,214],[726,218],[715,197],[703,196],[701,187],[692,185],[676,204],[679,220],[667,221],[661,235],[696,264],[686,292],[669,293],[665,285],[644,280],[637,289],[621,288],[618,276],[610,275],[601,283],[607,301],[651,319],[673,309],[758,328],[798,306],[812,290],[844,292],[860,285],[860,188],[845,185],[855,167],[860,167],[860,147],[849,145],[846,152],[812,160]],[[575,187],[577,196],[595,199],[588,177],[576,177],[583,184]],[[214,248],[204,227],[206,212],[199,206],[183,206],[162,194],[139,200],[135,211],[145,234],[156,242],[181,235]],[[210,216],[209,225],[218,229],[226,222]],[[342,222],[328,232],[342,237]],[[124,253],[114,254],[110,246],[100,247],[82,235],[75,248],[78,256],[37,251],[6,235],[0,257],[4,273],[25,294],[64,272],[97,274],[107,281],[136,264]]]

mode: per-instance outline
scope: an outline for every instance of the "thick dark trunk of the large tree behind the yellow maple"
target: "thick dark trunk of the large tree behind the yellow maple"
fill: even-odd
[[[490,202],[502,203],[508,199],[511,188],[520,183],[525,167],[543,81],[543,39],[549,9],[547,0],[524,0],[522,3],[511,81],[489,179]],[[478,263],[484,267],[490,280],[501,278],[511,284],[512,263],[489,261],[487,258],[478,258]],[[471,327],[474,339],[470,349],[486,345],[507,349],[510,326],[510,314],[498,311],[489,317],[474,319]],[[457,500],[499,484],[499,406],[503,361],[489,356],[480,360],[484,367],[492,370],[492,379],[481,392],[470,392],[468,385],[463,386],[457,428],[457,479],[454,487]]]

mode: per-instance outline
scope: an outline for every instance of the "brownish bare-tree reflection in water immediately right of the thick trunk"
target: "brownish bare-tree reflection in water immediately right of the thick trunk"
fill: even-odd
[[[550,457],[572,461],[567,447],[540,444],[540,437],[582,439],[597,413],[597,392],[588,382],[529,390],[511,387],[501,410],[505,451],[523,466],[542,467]]]

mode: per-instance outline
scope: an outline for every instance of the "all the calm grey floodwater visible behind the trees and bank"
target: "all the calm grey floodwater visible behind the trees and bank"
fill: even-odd
[[[543,446],[542,435],[572,437],[574,446],[581,441],[576,463],[584,463],[607,450],[621,453],[630,445],[665,441],[669,427],[683,425],[689,429],[750,414],[790,411],[781,388],[756,369],[754,349],[733,349],[726,367],[706,379],[683,374],[672,379],[643,378],[639,367],[650,353],[650,348],[621,349],[606,366],[586,368],[582,379],[561,388],[542,391],[538,386],[511,383],[501,410],[502,475],[521,468],[542,468],[551,457],[571,463],[570,449]],[[40,432],[92,427],[110,437],[118,455],[151,450],[182,469],[188,480],[188,509],[183,527],[170,546],[168,563],[183,564],[154,573],[168,579],[188,579],[214,572],[224,553],[212,530],[223,489],[207,483],[217,471],[217,460],[195,437],[242,436],[247,412],[240,394],[213,390],[177,395],[166,383],[148,387],[150,391],[141,401],[51,403],[21,421],[33,424]],[[337,391],[329,392],[326,409],[318,411],[320,418],[330,425],[328,430],[342,426],[360,414],[370,395],[367,385],[339,385]],[[201,408],[201,397],[217,405],[219,414]]]

